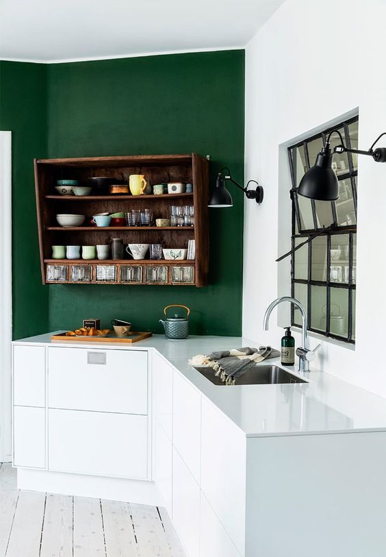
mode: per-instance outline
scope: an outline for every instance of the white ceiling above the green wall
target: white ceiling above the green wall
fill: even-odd
[[[244,47],[284,0],[0,0],[0,59]]]

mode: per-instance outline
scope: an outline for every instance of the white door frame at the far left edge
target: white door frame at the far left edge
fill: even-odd
[[[0,462],[11,460],[11,132],[0,132]]]

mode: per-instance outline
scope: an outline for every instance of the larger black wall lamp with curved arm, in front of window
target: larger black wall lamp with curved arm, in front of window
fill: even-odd
[[[330,138],[332,134],[338,134],[341,145],[336,145],[333,152],[330,148]],[[374,145],[385,136],[386,132],[381,134],[368,151],[359,151],[358,149],[350,149],[343,143],[342,134],[333,129],[329,133],[326,140],[325,147],[318,154],[314,166],[305,173],[298,187],[298,193],[310,199],[317,199],[318,201],[335,201],[339,197],[339,184],[337,175],[331,167],[333,161],[333,153],[357,153],[359,155],[370,155],[376,162],[386,162],[386,148],[378,147],[373,149]]]

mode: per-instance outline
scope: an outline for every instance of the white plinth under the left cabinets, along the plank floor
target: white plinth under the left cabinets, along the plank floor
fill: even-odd
[[[97,497],[140,505],[159,506],[161,503],[155,483],[142,480],[18,468],[17,486],[30,491]]]

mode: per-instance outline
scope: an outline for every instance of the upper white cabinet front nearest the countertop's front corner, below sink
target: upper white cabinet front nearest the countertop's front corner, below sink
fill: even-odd
[[[226,387],[224,387],[226,388]],[[246,438],[213,404],[203,399],[201,489],[238,551],[245,544]]]

